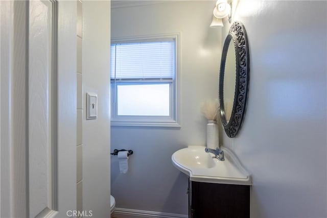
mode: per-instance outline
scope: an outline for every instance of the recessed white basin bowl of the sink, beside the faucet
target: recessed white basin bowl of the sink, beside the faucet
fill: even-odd
[[[174,158],[184,166],[194,168],[212,168],[216,166],[213,156],[204,152],[203,147],[192,146],[178,150],[174,153]]]

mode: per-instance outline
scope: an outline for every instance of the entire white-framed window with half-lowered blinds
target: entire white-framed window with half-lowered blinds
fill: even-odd
[[[111,125],[179,127],[179,34],[111,41]]]

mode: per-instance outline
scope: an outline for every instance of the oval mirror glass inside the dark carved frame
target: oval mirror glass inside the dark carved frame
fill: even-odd
[[[236,55],[234,41],[229,41],[224,73],[224,107],[227,123],[230,120],[236,85]]]

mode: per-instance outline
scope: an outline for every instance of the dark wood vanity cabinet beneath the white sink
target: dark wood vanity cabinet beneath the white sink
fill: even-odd
[[[189,218],[249,218],[250,186],[189,180]]]

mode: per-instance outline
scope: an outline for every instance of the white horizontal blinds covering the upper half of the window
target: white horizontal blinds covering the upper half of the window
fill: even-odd
[[[173,79],[174,41],[111,44],[111,79]]]

